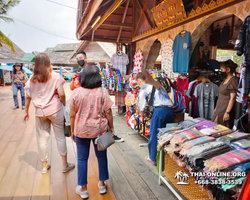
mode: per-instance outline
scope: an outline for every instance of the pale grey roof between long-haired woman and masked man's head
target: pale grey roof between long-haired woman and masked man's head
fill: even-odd
[[[54,48],[47,48],[44,53],[48,54],[52,65],[72,65],[71,57],[81,43],[58,44]]]

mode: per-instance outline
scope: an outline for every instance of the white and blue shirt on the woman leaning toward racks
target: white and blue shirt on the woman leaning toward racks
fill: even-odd
[[[138,107],[140,111],[143,111],[147,99],[150,97],[151,92],[152,92],[152,85],[145,84],[144,86],[141,87],[140,93],[139,93],[139,103]],[[163,91],[163,90],[155,90],[154,98],[153,98],[153,106],[168,106],[168,107],[173,107],[173,103],[171,99],[169,98],[168,94]]]

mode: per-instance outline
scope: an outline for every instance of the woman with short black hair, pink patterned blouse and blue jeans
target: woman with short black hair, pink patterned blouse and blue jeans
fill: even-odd
[[[89,197],[87,190],[88,157],[91,141],[95,148],[99,168],[99,193],[106,193],[105,181],[109,179],[107,150],[98,150],[98,135],[106,135],[110,127],[114,135],[113,115],[108,91],[102,88],[102,78],[97,66],[84,67],[80,74],[80,88],[73,91],[70,100],[70,126],[72,139],[76,142],[78,159],[78,186],[81,198]],[[112,138],[112,136],[111,136]]]

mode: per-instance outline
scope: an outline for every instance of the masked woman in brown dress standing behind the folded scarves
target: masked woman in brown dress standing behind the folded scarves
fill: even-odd
[[[219,99],[214,110],[212,121],[232,128],[234,124],[234,104],[238,90],[239,79],[235,76],[237,64],[227,60],[220,64],[221,75],[225,80],[219,87]]]

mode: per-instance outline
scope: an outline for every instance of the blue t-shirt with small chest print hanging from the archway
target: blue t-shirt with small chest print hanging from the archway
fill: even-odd
[[[186,31],[184,34],[179,33],[173,44],[173,72],[188,73],[189,53],[191,51],[191,34]]]

